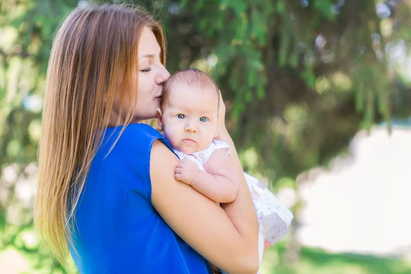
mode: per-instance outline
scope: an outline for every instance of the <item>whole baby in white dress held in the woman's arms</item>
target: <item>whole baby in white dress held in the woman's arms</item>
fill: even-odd
[[[175,179],[217,203],[229,203],[236,199],[238,186],[234,166],[229,163],[230,147],[215,139],[219,99],[219,88],[206,73],[177,71],[164,84],[158,129],[179,156]],[[221,161],[227,164],[219,174],[207,172]],[[292,214],[258,179],[247,173],[245,177],[260,225],[261,260],[262,251],[286,234]]]

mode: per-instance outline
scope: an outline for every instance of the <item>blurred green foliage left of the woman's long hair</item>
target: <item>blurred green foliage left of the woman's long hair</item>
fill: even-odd
[[[16,250],[41,273],[66,271],[51,258],[44,259],[32,228],[32,197],[20,197],[16,188],[33,188],[36,182],[51,40],[75,5],[73,0],[0,1],[0,191],[5,193],[0,200],[0,253]]]

